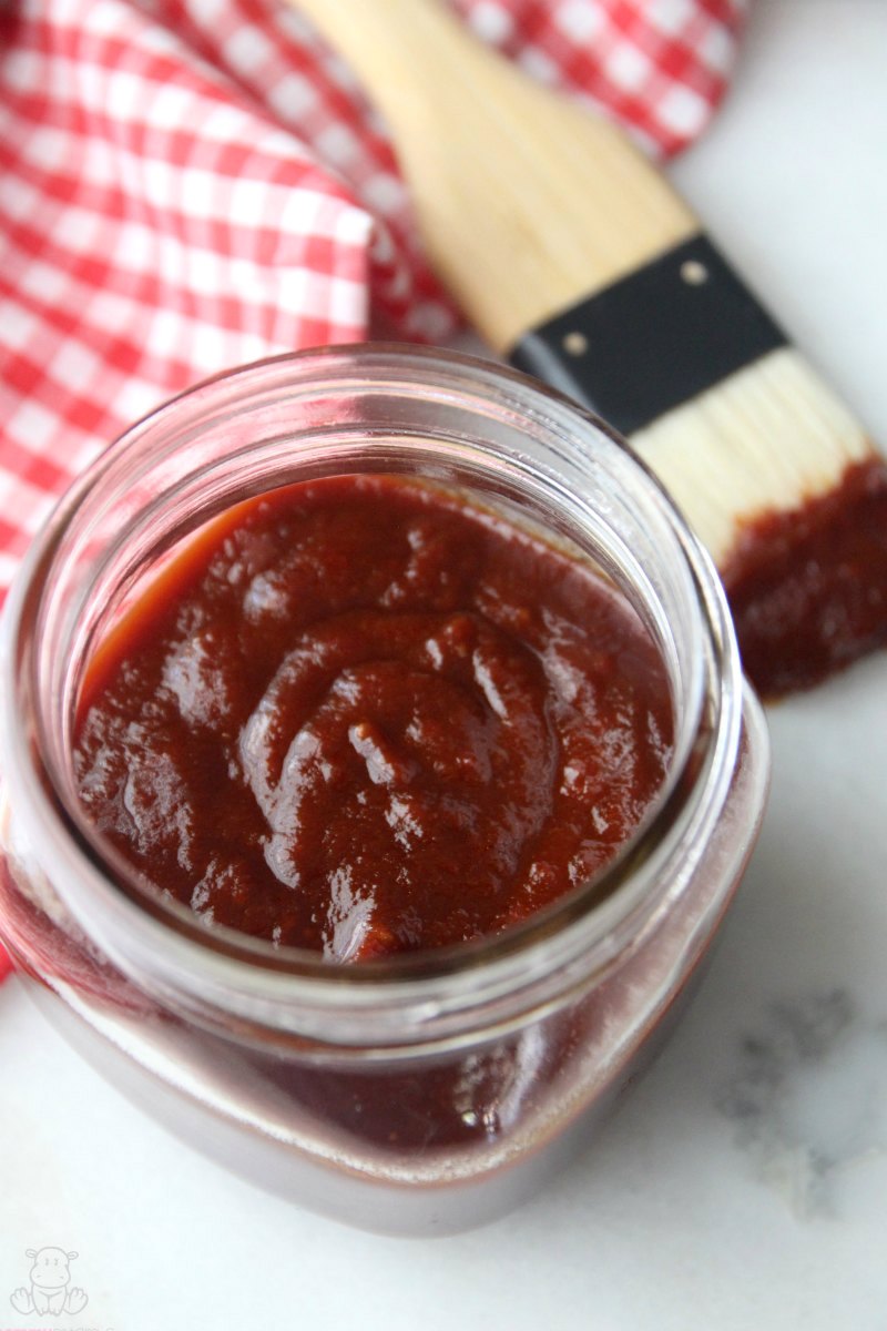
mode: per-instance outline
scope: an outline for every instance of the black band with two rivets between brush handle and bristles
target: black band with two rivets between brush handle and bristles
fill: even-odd
[[[786,345],[706,236],[556,315],[508,359],[633,434]]]

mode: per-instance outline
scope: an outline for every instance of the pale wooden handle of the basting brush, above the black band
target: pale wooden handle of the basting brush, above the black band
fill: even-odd
[[[431,262],[497,351],[696,234],[626,136],[439,0],[291,0],[384,114]]]

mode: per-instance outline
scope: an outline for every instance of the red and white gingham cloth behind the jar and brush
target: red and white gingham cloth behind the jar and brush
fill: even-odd
[[[747,0],[452,3],[668,156],[721,98]],[[456,325],[383,125],[285,0],[0,0],[0,602],[126,425],[375,315]]]

